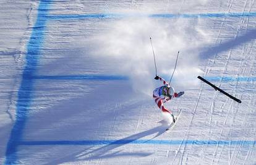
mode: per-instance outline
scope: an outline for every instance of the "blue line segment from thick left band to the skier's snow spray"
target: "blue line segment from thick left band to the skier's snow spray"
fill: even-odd
[[[129,80],[129,77],[122,75],[41,75],[26,78],[33,80]]]

